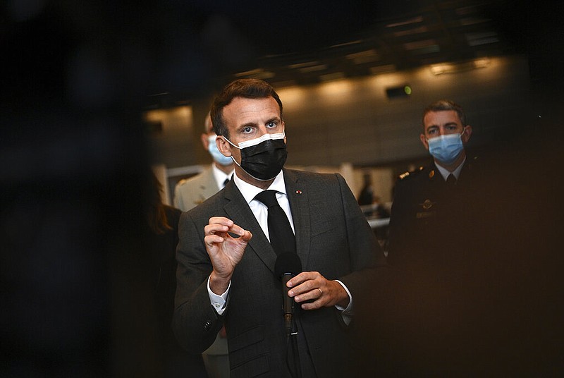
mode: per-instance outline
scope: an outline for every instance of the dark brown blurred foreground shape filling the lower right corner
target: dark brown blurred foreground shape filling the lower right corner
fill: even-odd
[[[457,248],[437,251],[448,261],[390,269],[355,302],[362,374],[562,376],[564,139],[560,123],[529,131],[484,157],[475,211],[436,230],[462,230]]]

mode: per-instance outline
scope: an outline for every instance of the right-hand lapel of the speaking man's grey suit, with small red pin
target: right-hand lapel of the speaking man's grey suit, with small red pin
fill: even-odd
[[[296,252],[302,261],[302,269],[305,270],[311,238],[307,184],[300,180],[294,171],[286,169],[284,169],[284,182],[292,211]]]

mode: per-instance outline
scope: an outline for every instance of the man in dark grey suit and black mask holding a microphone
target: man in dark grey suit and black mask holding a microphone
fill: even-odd
[[[201,353],[225,324],[231,377],[350,377],[353,299],[373,289],[376,267],[384,264],[353,193],[337,173],[283,169],[282,103],[269,84],[227,85],[214,100],[212,121],[219,150],[235,160],[235,175],[180,219],[178,340]],[[266,189],[276,190],[302,264],[287,285],[296,303],[295,353],[288,350],[284,294],[274,274],[269,210],[255,198]],[[300,372],[290,362],[296,355]]]

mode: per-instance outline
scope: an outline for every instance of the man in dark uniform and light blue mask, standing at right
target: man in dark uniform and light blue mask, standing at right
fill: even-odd
[[[453,248],[467,235],[470,185],[476,158],[467,157],[472,135],[462,108],[440,100],[423,114],[422,145],[433,163],[398,178],[390,220],[388,262],[394,265],[440,263],[455,257]]]

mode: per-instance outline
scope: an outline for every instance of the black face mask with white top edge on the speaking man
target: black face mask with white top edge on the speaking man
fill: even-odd
[[[229,141],[228,141],[229,142]],[[231,142],[229,142],[231,143]],[[231,143],[233,145],[233,143]],[[257,145],[248,147],[234,147],[241,150],[241,164],[233,156],[231,159],[247,172],[252,178],[259,181],[268,181],[275,178],[286,163],[286,143],[283,139],[268,139]]]

